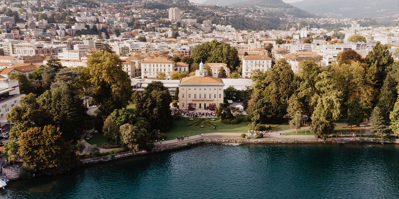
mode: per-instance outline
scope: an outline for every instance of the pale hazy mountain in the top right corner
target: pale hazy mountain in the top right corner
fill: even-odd
[[[399,10],[399,0],[303,0],[291,3],[307,12],[340,18],[378,18]]]

